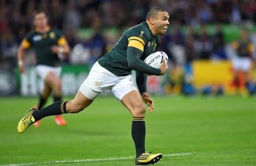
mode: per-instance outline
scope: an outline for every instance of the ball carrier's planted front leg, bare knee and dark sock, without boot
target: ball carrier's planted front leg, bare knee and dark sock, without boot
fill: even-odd
[[[144,116],[146,108],[142,103],[141,94],[139,94],[138,90],[127,93],[121,101],[133,115],[131,135],[136,148],[136,157],[139,157],[145,152],[146,127]]]

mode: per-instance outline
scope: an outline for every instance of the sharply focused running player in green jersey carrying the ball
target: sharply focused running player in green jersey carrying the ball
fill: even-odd
[[[145,113],[146,103],[150,112],[154,111],[154,101],[146,92],[147,75],[160,76],[167,72],[168,66],[163,59],[160,68],[144,63],[144,59],[159,47],[158,35],[166,34],[169,14],[160,7],[148,11],[145,22],[126,30],[112,50],[99,59],[90,70],[89,76],[80,86],[76,97],[71,101],[57,101],[42,110],[35,108],[23,117],[18,124],[18,132],[24,132],[32,123],[50,116],[66,113],[79,113],[105,90],[112,94],[130,111],[133,116],[131,135],[134,140],[135,164],[154,164],[162,154],[145,151]],[[131,70],[136,70],[133,83]]]

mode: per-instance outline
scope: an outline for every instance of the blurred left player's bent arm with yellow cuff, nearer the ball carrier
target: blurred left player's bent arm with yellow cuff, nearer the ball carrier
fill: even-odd
[[[51,47],[53,53],[63,53],[65,55],[69,55],[70,48],[64,36],[60,37],[60,39],[57,41],[57,44],[58,45],[53,45]]]

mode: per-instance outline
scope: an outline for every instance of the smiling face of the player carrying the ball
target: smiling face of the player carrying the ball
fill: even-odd
[[[158,34],[164,35],[166,34],[167,28],[169,27],[169,14],[165,11],[159,12],[157,18],[155,19],[156,28],[158,30]]]

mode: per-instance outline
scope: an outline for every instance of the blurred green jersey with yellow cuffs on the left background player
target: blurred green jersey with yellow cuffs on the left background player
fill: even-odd
[[[48,65],[58,67],[60,65],[59,57],[51,51],[53,45],[64,45],[67,40],[59,30],[48,27],[44,34],[38,31],[29,32],[22,40],[22,46],[32,48],[36,55],[36,65]]]

